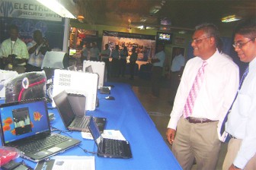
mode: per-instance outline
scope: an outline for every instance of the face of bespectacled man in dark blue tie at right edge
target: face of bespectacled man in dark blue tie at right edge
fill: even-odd
[[[235,52],[243,62],[251,62],[256,57],[256,40],[249,39],[241,34],[235,34]]]

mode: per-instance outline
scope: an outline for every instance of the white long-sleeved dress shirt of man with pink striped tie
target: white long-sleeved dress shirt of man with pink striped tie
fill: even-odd
[[[224,57],[218,50],[216,50],[206,62],[204,80],[197,95],[197,99],[194,102],[192,115],[190,116],[219,121],[219,132],[222,121],[230,105],[232,105],[232,101],[238,89],[239,70],[238,66],[235,65],[233,61]],[[176,129],[178,120],[183,115],[187,96],[194,83],[197,71],[202,64],[203,60],[199,57],[187,61],[184,73],[181,77],[181,83],[175,96],[168,128]]]

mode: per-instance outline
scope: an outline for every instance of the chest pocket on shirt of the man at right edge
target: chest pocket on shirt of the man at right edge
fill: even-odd
[[[251,106],[251,97],[238,92],[238,111],[240,113],[240,115],[244,116],[244,117],[248,117],[248,111],[250,109]]]

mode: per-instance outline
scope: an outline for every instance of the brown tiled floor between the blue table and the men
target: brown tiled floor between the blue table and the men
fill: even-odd
[[[129,83],[133,87],[134,93],[136,93],[136,96],[139,98],[139,101],[142,103],[144,108],[149,113],[150,117],[152,118],[152,121],[155,122],[155,126],[156,128],[158,128],[159,133],[162,134],[162,137],[164,139],[166,139],[165,131],[172,109],[171,105],[168,103],[170,94],[170,89],[168,87],[170,87],[170,82],[163,78],[161,82],[162,88],[160,92],[160,97],[157,99],[152,99],[152,97],[150,97],[150,80],[143,80],[139,77],[135,77],[134,80],[129,80],[129,77],[126,75],[126,77],[114,78],[110,79],[110,81]],[[171,150],[171,145],[168,144],[168,146],[170,147]],[[226,146],[226,144],[222,144],[222,150],[219,155],[219,162],[216,170],[222,169],[222,162],[226,154]],[[192,168],[192,170],[195,169],[197,169],[197,165],[194,165]]]

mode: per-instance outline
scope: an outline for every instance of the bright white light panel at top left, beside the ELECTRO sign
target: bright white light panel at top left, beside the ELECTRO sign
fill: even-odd
[[[42,5],[46,6],[56,14],[59,14],[61,17],[76,19],[76,17],[61,5],[58,0],[37,0],[37,2],[40,2]]]

